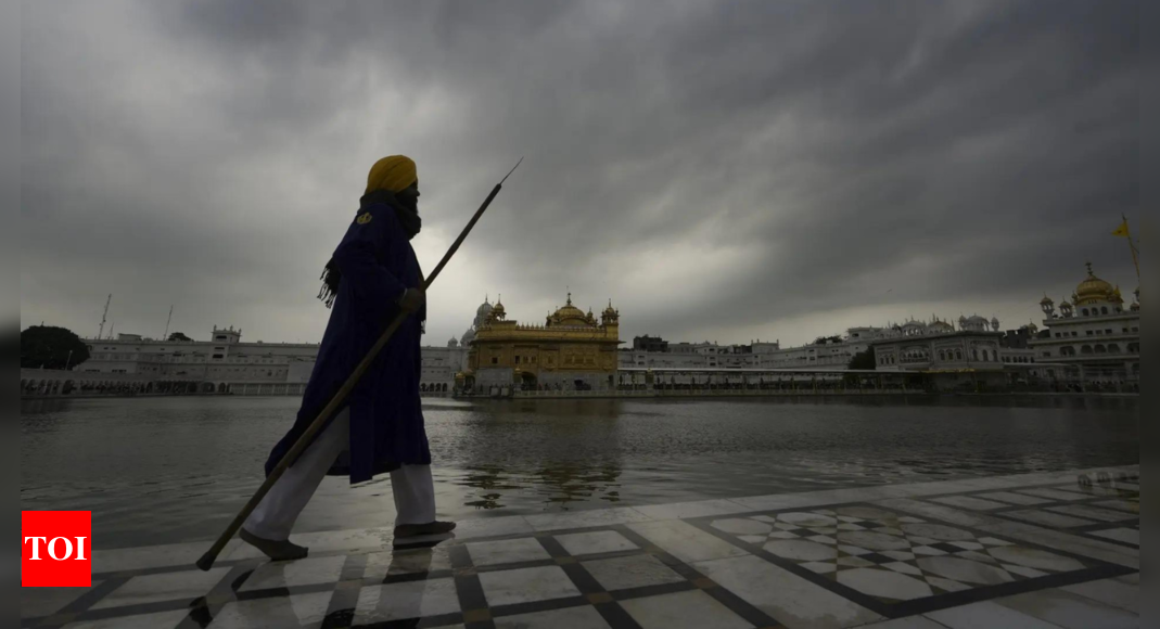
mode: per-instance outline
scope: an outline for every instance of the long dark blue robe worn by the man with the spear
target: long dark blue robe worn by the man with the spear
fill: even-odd
[[[406,288],[420,287],[422,281],[419,261],[394,207],[382,197],[363,198],[333,259],[342,278],[331,321],[298,419],[270,453],[267,474],[293,447],[398,315],[397,302]],[[349,474],[353,484],[400,465],[430,465],[419,400],[425,315],[423,309],[404,320],[350,393],[350,449],[339,458],[331,475]]]

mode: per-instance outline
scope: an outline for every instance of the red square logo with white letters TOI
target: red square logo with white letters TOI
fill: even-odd
[[[89,587],[90,511],[21,511],[21,587]]]

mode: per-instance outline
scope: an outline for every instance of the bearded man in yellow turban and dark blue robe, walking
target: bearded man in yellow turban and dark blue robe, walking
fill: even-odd
[[[394,155],[376,162],[360,209],[322,273],[319,298],[333,307],[331,321],[298,419],[270,453],[267,474],[386,326],[400,310],[408,316],[351,392],[347,407],[314,437],[242,525],[241,539],[271,559],[306,556],[306,548],[290,542],[290,531],[328,474],[349,476],[354,484],[390,473],[397,542],[455,528],[454,522],[435,520],[432,459],[419,400],[420,336],[427,310],[411,239],[421,222],[414,161]]]

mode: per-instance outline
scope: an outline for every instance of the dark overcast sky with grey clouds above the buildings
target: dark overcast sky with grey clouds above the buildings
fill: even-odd
[[[378,158],[427,343],[571,287],[622,338],[783,344],[1137,286],[1140,2],[26,2],[21,323],[317,342]],[[108,326],[106,332],[109,331]]]

